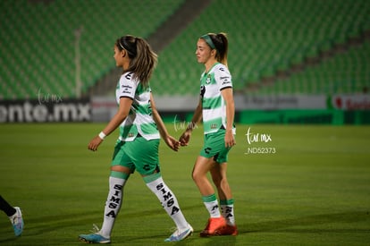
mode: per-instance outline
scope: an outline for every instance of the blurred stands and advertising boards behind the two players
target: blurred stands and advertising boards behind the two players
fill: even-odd
[[[370,123],[368,0],[3,0],[0,122],[105,122],[114,42],[147,39],[167,122],[190,119],[198,37],[226,32],[238,123]]]

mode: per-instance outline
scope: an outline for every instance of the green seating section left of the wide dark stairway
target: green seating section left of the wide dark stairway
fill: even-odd
[[[39,90],[74,98],[76,30],[84,92],[114,67],[116,38],[147,37],[182,2],[1,1],[0,99],[37,98]]]

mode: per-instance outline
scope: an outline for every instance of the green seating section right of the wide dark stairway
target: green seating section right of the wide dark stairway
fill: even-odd
[[[307,59],[315,59],[324,51],[346,44],[349,38],[358,38],[370,30],[368,16],[370,3],[366,0],[215,0],[160,54],[160,65],[152,84],[164,94],[198,93],[196,85],[203,67],[195,60],[197,39],[206,32],[225,31],[230,40],[229,67],[237,92],[357,93],[365,83],[369,84],[370,69],[366,64],[370,55],[366,44],[354,50],[349,48],[349,54],[334,55],[333,61],[330,58],[313,68],[293,73],[291,79],[276,81],[273,85],[266,85],[263,79],[303,64]],[[357,57],[364,53],[367,56]],[[176,62],[182,65],[180,71],[170,56],[177,57]],[[351,64],[354,60],[363,70],[354,71],[358,67]],[[341,63],[351,64],[345,67],[346,72],[342,74],[345,77],[334,74],[335,67]],[[179,72],[186,72],[185,80]],[[353,73],[357,76],[352,77]],[[164,81],[172,81],[170,87]],[[343,86],[348,83],[351,86]],[[249,87],[258,89],[249,91]]]

